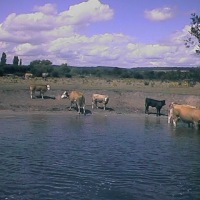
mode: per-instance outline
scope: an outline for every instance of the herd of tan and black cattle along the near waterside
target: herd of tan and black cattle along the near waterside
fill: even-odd
[[[30,85],[30,96],[31,99],[33,96],[35,96],[35,92],[40,92],[40,96],[42,99],[44,98],[44,93],[46,91],[50,90],[50,85]],[[85,97],[84,94],[78,91],[71,91],[67,92],[64,91],[64,93],[61,95],[61,99],[68,98],[71,102],[70,104],[70,110],[72,108],[72,105],[75,104],[78,113],[81,113],[81,109],[83,110],[83,114],[85,114]],[[109,96],[108,95],[102,95],[102,94],[93,94],[92,95],[92,109],[94,109],[94,105],[96,108],[98,108],[97,103],[102,103],[104,110],[106,110],[106,105],[109,102]],[[145,113],[149,114],[149,106],[156,108],[156,115],[160,116],[161,109],[163,106],[165,106],[165,100],[155,100],[146,98],[145,99]],[[172,102],[169,105],[169,112],[168,112],[168,123],[173,124],[174,127],[177,126],[177,122],[182,121],[184,123],[187,123],[188,126],[192,125],[195,128],[200,128],[200,109],[198,109],[195,106],[187,105],[187,104],[178,104],[175,102]]]

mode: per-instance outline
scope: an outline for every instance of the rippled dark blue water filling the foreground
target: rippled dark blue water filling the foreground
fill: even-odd
[[[154,115],[0,116],[0,199],[198,199],[200,133]]]

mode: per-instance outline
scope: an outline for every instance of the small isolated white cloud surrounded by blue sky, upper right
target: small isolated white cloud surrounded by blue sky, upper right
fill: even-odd
[[[152,21],[164,21],[171,19],[175,12],[174,9],[170,7],[164,7],[164,8],[156,8],[153,10],[145,10],[144,12],[145,17]]]

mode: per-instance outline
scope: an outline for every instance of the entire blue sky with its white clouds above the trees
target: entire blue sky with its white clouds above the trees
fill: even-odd
[[[196,46],[184,45],[200,0],[6,0],[0,7],[7,63],[18,56],[24,65],[200,66]]]

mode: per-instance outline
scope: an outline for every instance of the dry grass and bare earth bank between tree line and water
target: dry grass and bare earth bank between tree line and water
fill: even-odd
[[[29,85],[32,83],[50,84],[51,90],[41,99],[31,99]],[[185,83],[145,81],[135,79],[104,79],[104,78],[33,78],[24,80],[19,77],[0,77],[0,112],[70,112],[68,99],[60,99],[64,90],[78,90],[85,94],[87,113],[144,113],[145,98],[166,100],[161,113],[167,115],[168,106],[172,101],[187,103],[200,107],[200,84],[189,87]],[[91,109],[93,93],[108,94],[110,101],[107,110]],[[150,108],[155,113],[155,108]]]

